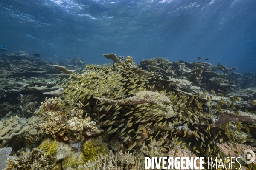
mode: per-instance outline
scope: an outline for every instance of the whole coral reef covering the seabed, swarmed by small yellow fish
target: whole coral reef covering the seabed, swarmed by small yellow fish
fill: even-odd
[[[220,159],[242,156],[245,148],[255,152],[253,74],[228,73],[236,68],[207,62],[172,63],[157,57],[136,65],[129,56],[105,57],[113,66],[73,66],[69,72],[64,62],[54,64],[60,71],[53,63],[33,59],[32,64],[9,63],[1,72],[0,96],[18,94],[18,102],[0,101],[0,147],[12,146],[16,156],[9,158],[9,168],[26,169],[27,163],[20,164],[24,161],[41,169],[58,163],[65,170],[139,170],[144,156]],[[70,63],[84,65],[79,58]],[[25,78],[12,76],[13,69]],[[29,119],[11,117],[32,113],[36,116]],[[40,162],[44,159],[48,163]],[[255,162],[242,165],[256,167]]]

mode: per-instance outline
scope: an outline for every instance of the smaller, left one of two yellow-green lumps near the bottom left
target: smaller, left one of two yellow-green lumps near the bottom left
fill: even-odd
[[[42,149],[47,155],[52,155],[58,149],[58,142],[55,139],[44,139],[44,141],[38,146],[38,149]]]

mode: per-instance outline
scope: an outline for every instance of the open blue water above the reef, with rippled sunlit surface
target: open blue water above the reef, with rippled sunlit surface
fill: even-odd
[[[105,53],[136,63],[201,57],[256,70],[255,0],[0,0],[0,14],[3,53],[86,63],[109,62]]]

